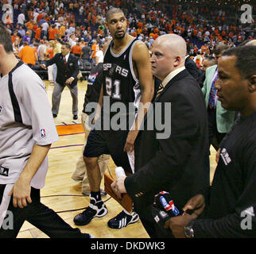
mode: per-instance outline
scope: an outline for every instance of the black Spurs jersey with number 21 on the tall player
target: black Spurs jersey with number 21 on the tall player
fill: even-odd
[[[103,63],[103,95],[110,97],[110,105],[122,102],[129,109],[129,102],[138,108],[141,90],[134,74],[132,52],[138,40],[132,39],[118,55],[112,52],[113,40],[107,48]],[[128,113],[128,112],[127,112]]]

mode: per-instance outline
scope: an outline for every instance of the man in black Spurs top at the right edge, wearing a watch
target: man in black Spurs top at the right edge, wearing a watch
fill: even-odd
[[[217,96],[225,110],[239,111],[239,117],[219,145],[211,187],[184,206],[194,214],[166,223],[175,237],[256,237],[255,66],[255,46],[228,49],[218,60]]]

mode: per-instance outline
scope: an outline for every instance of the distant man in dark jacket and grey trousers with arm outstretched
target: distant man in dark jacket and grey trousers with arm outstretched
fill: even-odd
[[[41,67],[45,68],[49,65],[56,64],[57,76],[56,85],[52,92],[52,115],[57,117],[60,107],[60,98],[64,87],[67,86],[72,95],[72,114],[76,120],[78,111],[78,91],[77,91],[77,75],[80,71],[78,59],[71,52],[70,44],[61,46],[61,53],[57,53],[52,59],[47,60]]]

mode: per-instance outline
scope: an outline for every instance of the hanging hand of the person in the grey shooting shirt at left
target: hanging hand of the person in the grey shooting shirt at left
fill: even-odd
[[[27,206],[27,202],[31,203],[30,191],[31,186],[27,179],[22,178],[22,176],[17,179],[17,182],[14,183],[14,187],[9,193],[9,196],[13,195],[14,207],[24,208]]]

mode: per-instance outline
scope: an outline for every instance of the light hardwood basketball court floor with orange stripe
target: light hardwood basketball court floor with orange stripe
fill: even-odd
[[[49,102],[52,99],[53,87],[45,81]],[[41,202],[52,210],[58,212],[60,217],[72,227],[78,227],[83,233],[91,233],[96,238],[149,238],[141,221],[128,225],[124,229],[111,229],[107,221],[122,211],[122,207],[109,195],[103,198],[107,205],[108,214],[102,218],[94,218],[88,225],[76,226],[73,217],[79,214],[89,204],[89,197],[81,193],[81,183],[71,179],[76,169],[76,162],[83,149],[84,134],[80,121],[83,109],[84,94],[87,89],[87,81],[78,83],[79,89],[79,118],[72,119],[72,97],[65,87],[61,102],[60,112],[54,118],[60,140],[52,144],[48,153],[48,175],[45,187],[41,190]],[[211,179],[215,171],[215,149],[211,147]],[[110,160],[109,171],[114,174],[114,162]],[[102,183],[103,188],[103,183]],[[18,238],[48,238],[45,233],[25,221],[21,227]]]

